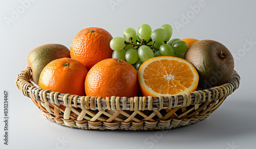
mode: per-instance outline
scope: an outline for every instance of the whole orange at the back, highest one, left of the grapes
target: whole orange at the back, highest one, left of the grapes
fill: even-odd
[[[70,47],[70,56],[89,70],[101,60],[112,58],[111,34],[101,28],[86,28],[78,32]]]

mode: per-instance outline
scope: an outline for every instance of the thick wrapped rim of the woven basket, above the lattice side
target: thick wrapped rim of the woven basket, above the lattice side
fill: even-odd
[[[21,71],[16,78],[16,86],[25,96],[30,97],[35,101],[90,110],[121,109],[138,111],[187,107],[189,105],[202,104],[224,98],[234,92],[240,84],[240,76],[236,70],[233,70],[229,82],[205,90],[158,97],[135,96],[128,98],[111,96],[102,98],[95,96],[78,96],[41,89],[31,82],[31,74],[31,69],[27,68]]]

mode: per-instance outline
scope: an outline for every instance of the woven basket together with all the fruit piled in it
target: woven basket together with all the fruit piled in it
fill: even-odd
[[[16,85],[49,120],[72,128],[188,126],[214,112],[240,78],[223,44],[172,34],[169,24],[153,31],[141,24],[114,38],[102,28],[82,29],[70,49],[32,49]]]

